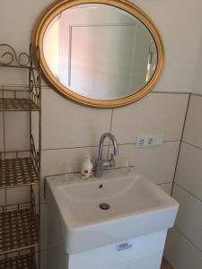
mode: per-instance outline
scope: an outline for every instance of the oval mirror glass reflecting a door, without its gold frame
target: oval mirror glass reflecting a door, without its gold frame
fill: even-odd
[[[93,100],[119,100],[151,81],[154,38],[135,16],[108,4],[78,4],[48,24],[43,54],[68,90]]]

